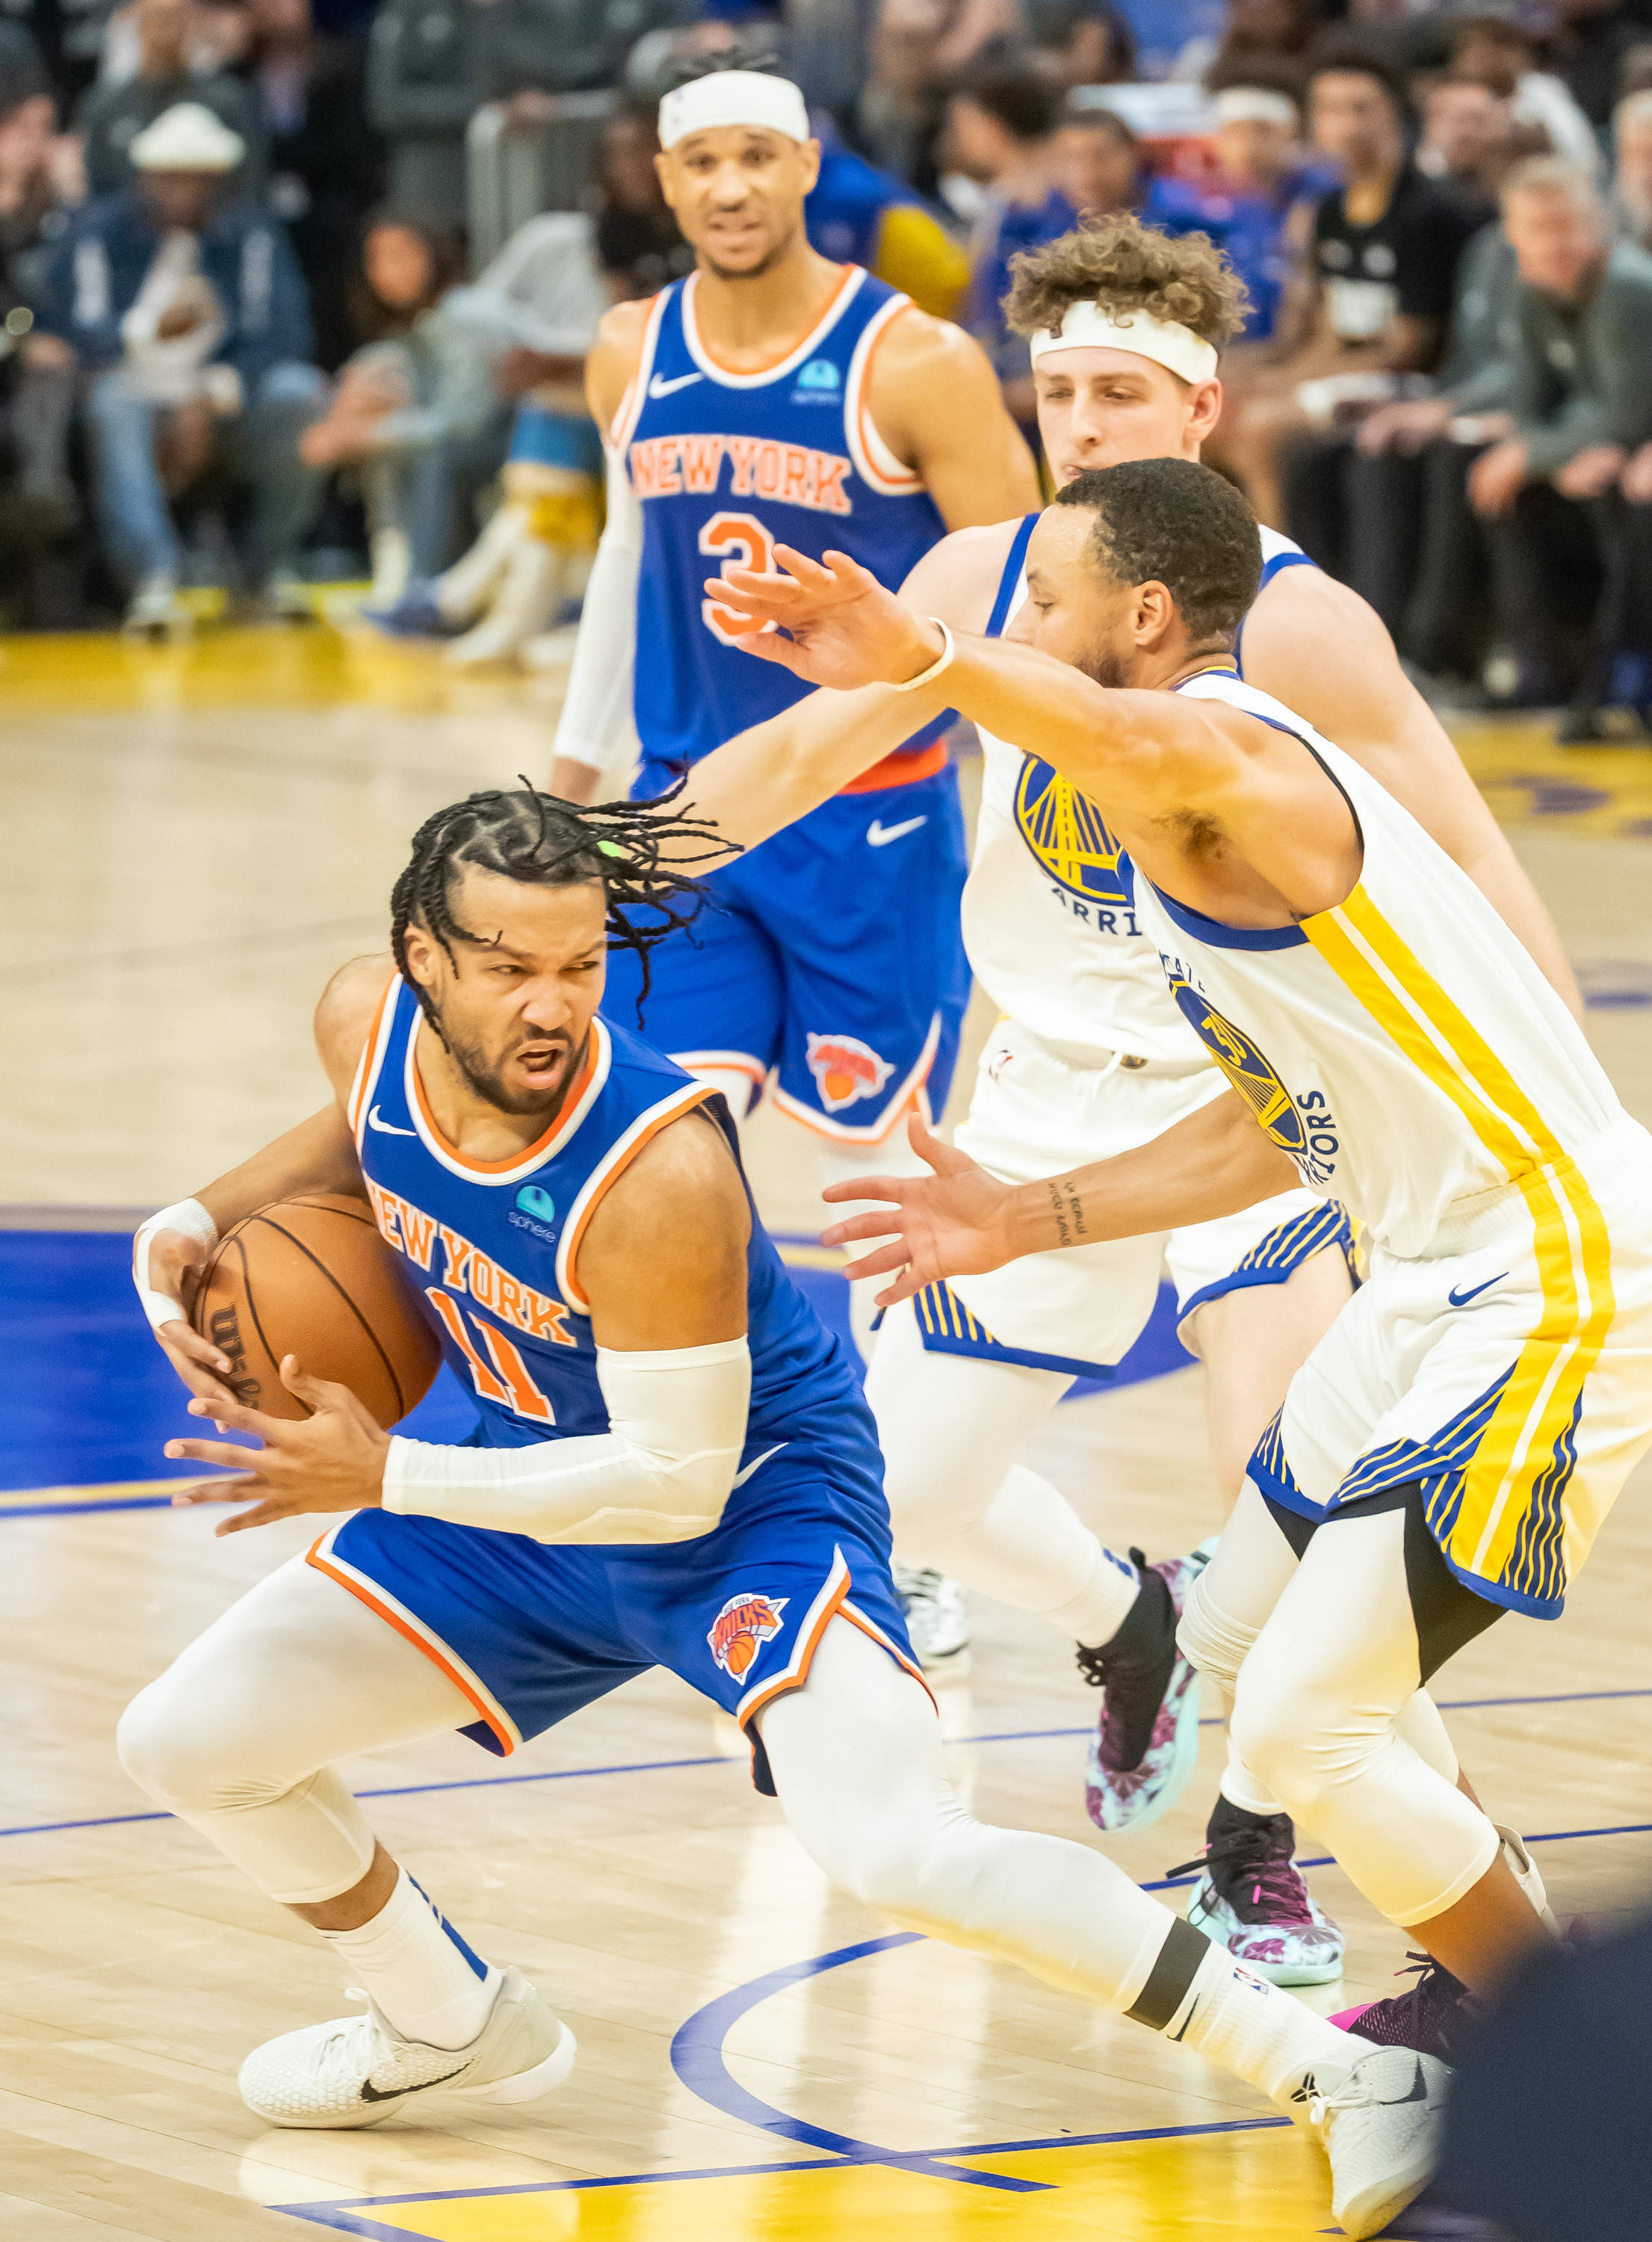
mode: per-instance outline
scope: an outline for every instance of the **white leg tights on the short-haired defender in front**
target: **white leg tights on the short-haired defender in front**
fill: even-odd
[[[1500,1836],[1457,1789],[1421,1688],[1401,1511],[1336,1518],[1298,1560],[1246,1482],[1181,1648],[1231,1697],[1244,1767],[1392,1924],[1426,1924],[1486,1874]]]

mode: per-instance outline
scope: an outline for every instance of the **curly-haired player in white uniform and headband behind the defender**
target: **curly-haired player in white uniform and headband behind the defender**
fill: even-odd
[[[1226,260],[1204,238],[1168,240],[1134,217],[1107,217],[1015,269],[1009,318],[1033,341],[1056,480],[1121,460],[1197,460],[1222,410],[1217,345],[1242,323],[1244,291]],[[1033,520],[946,538],[903,601],[957,630],[1009,628],[1027,596]],[[1396,794],[1576,1002],[1542,904],[1383,626],[1287,538],[1262,529],[1262,552],[1235,646],[1244,675]],[[982,749],[964,939],[1004,1018],[957,1143],[1024,1184],[1150,1141],[1226,1083],[1166,993],[1103,816],[1038,756],[989,731]],[[731,753],[699,765],[695,805],[731,839],[758,841],[879,747],[872,731],[836,726],[816,760],[764,735]],[[1204,1556],[1139,1565],[1103,1549],[1018,1448],[1074,1377],[1107,1377],[1168,1273],[1179,1334],[1204,1361],[1215,1475],[1231,1507],[1291,1374],[1349,1298],[1347,1242],[1340,1208],[1298,1184],[1215,1222],[1190,1217],[1159,1235],[966,1273],[883,1321],[867,1399],[897,1547],[1076,1637],[1080,1668],[1105,1686],[1085,1785],[1103,1829],[1148,1825],[1195,1764],[1199,1690],[1177,1659],[1175,1625]],[[1526,1874],[1513,1832],[1509,1841]],[[1231,1758],[1192,1919],[1278,1982],[1320,1984],[1340,1971],[1343,1937],[1302,1883],[1293,1843],[1280,1803]]]

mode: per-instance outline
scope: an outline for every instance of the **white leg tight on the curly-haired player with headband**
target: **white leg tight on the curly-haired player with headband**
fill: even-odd
[[[1071,1386],[1056,1370],[930,1354],[910,1300],[883,1318],[865,1397],[903,1556],[939,1565],[1083,1643],[1105,1643],[1134,1601],[1062,1493],[1015,1462]]]

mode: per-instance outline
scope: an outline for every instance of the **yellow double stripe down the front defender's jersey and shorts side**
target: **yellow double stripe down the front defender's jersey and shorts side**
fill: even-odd
[[[1576,1161],[1461,1007],[1439,986],[1363,888],[1302,921],[1336,978],[1453,1101],[1520,1186],[1533,1220],[1542,1309],[1464,1473],[1446,1554],[1502,1581],[1533,1489],[1562,1437],[1612,1327],[1612,1240]],[[1509,1587],[1540,1592],[1538,1583]],[[1553,1592],[1553,1590],[1549,1590]]]

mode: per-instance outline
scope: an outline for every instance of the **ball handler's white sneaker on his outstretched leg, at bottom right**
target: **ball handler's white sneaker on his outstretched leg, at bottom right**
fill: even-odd
[[[1439,2152],[1450,2072],[1410,2047],[1374,2047],[1340,2085],[1300,2090],[1309,2130],[1331,2159],[1331,2211],[1349,2242],[1379,2235],[1423,2193]]]

